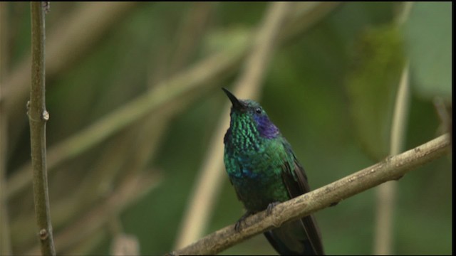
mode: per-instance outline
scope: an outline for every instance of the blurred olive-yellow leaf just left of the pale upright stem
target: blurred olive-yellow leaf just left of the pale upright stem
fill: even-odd
[[[373,160],[389,154],[391,119],[404,60],[403,39],[394,25],[369,28],[356,41],[346,90],[356,137]]]

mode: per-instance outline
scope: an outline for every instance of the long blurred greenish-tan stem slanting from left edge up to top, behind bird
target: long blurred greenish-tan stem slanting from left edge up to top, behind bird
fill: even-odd
[[[291,40],[294,36],[320,21],[339,4],[326,2],[297,4],[296,10],[287,21],[286,29],[281,31],[279,38],[281,43]],[[210,55],[188,70],[160,82],[155,86],[156,88],[151,89],[145,95],[137,97],[88,128],[53,146],[48,152],[49,171],[53,171],[53,167],[61,162],[78,156],[96,144],[103,142],[114,132],[142,117],[145,112],[152,112],[152,110],[160,108],[162,103],[175,100],[176,97],[196,89],[197,92],[202,92],[204,90],[202,85],[207,85],[211,80],[234,71],[239,61],[247,54],[248,47],[249,43],[235,52],[225,50],[222,53]],[[31,178],[28,175],[29,166],[30,163],[26,163],[13,172],[14,175],[8,181],[6,198],[11,198],[31,183]]]

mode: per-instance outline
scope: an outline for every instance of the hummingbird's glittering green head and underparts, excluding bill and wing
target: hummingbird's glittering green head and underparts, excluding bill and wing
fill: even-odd
[[[293,154],[266,112],[252,100],[234,100],[231,122],[224,137],[224,164],[239,200],[249,211],[289,200],[282,180],[284,166],[293,166]]]

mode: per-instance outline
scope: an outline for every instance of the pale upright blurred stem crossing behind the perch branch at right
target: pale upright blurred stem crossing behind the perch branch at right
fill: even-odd
[[[407,127],[409,113],[409,80],[408,80],[408,61],[405,64],[398,93],[395,100],[393,122],[391,127],[390,156],[394,156],[403,151],[405,141],[405,129]],[[377,190],[377,218],[374,236],[375,255],[390,255],[393,253],[393,221],[396,198],[397,183],[388,182],[378,187]]]

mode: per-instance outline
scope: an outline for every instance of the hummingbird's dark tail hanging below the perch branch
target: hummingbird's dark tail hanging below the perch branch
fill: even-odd
[[[312,215],[284,223],[264,233],[280,255],[324,255],[320,234]]]

